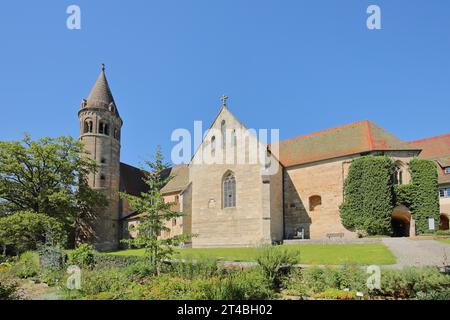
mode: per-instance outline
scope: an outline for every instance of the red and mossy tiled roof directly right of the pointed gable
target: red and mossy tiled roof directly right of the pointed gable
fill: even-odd
[[[279,148],[285,167],[370,151],[416,150],[369,120],[284,140]]]

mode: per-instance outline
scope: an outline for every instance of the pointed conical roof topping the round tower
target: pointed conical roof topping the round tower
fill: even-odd
[[[109,88],[108,80],[106,79],[105,65],[102,65],[100,75],[89,93],[86,107],[113,110],[117,115],[119,114],[111,89]]]

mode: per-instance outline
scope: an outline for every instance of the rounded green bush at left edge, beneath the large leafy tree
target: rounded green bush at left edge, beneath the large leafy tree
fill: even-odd
[[[67,241],[64,225],[57,219],[32,211],[17,212],[0,218],[0,244],[7,251],[22,253],[36,250],[51,233],[55,243]]]

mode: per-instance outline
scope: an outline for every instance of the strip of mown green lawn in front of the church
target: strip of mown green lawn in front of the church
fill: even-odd
[[[289,251],[300,252],[300,263],[338,265],[394,264],[394,255],[381,243],[370,244],[300,244],[284,245]],[[260,248],[186,248],[178,249],[180,258],[207,257],[222,261],[255,261]],[[111,254],[142,256],[143,249],[117,251]]]

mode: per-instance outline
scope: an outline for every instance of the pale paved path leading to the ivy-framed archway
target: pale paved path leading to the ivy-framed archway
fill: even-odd
[[[435,240],[383,238],[383,243],[397,258],[393,267],[450,265],[450,245]]]

